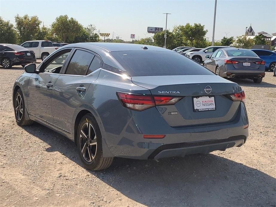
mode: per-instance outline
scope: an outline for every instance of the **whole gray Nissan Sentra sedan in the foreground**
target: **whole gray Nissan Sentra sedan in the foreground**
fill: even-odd
[[[155,159],[242,146],[243,90],[161,47],[78,43],[59,48],[13,87],[16,122],[73,140],[84,166],[113,157]]]

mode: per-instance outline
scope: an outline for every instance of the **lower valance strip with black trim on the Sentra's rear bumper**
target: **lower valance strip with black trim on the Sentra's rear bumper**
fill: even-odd
[[[222,140],[210,140],[195,143],[166,144],[158,147],[149,159],[158,160],[163,157],[184,157],[191,154],[207,154],[216,150],[224,151],[230,147],[240,147],[246,141],[246,136],[239,135]]]

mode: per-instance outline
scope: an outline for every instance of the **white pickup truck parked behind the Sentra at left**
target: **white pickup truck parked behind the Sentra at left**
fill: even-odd
[[[33,50],[36,55],[36,59],[44,60],[52,52],[58,49],[58,47],[53,47],[53,43],[47,40],[34,40],[27,41],[20,46],[26,47],[28,50]]]

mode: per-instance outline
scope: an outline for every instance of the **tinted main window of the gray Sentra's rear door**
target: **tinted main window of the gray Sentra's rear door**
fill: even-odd
[[[86,75],[88,66],[90,65],[94,55],[83,50],[76,50],[65,74],[70,75]]]

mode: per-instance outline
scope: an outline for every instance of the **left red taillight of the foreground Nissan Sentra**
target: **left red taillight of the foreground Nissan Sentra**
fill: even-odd
[[[143,111],[153,106],[173,105],[182,98],[174,96],[132,94],[126,92],[117,92],[117,96],[124,107],[135,111]]]

